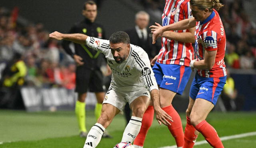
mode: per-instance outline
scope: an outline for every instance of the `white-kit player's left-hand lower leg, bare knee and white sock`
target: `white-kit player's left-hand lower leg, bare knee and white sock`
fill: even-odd
[[[95,148],[99,144],[103,132],[109,126],[114,116],[118,114],[118,112],[120,112],[120,110],[113,105],[108,103],[104,103],[102,105],[102,112],[100,117],[98,118],[97,123],[94,124],[94,126],[92,126],[91,130],[89,131],[84,144],[84,148]]]

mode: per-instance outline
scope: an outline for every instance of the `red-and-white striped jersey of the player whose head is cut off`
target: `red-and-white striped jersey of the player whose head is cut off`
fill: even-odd
[[[190,18],[190,12],[189,0],[166,0],[162,14],[162,26]],[[175,32],[188,32],[188,30]],[[194,59],[194,49],[191,43],[162,37],[162,48],[157,58],[158,63],[189,66],[190,59]]]

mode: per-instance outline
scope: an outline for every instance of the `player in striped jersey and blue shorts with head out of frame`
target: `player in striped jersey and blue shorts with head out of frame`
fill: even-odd
[[[190,18],[189,0],[166,0],[162,14],[162,26],[173,24],[180,20]],[[161,27],[156,23],[155,28]],[[195,28],[164,32],[162,36],[162,48],[158,55],[152,60],[152,68],[160,87],[161,107],[166,111],[174,122],[168,125],[172,136],[175,138],[177,147],[184,144],[184,133],[178,112],[172,107],[172,99],[181,95],[190,77],[190,61],[194,58],[194,49],[191,43],[195,42]],[[144,113],[140,133],[134,141],[135,148],[142,148],[148,129],[154,116],[154,109],[149,106]]]

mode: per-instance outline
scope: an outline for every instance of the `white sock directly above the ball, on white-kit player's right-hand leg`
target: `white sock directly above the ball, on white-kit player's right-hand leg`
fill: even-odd
[[[121,142],[132,143],[134,141],[134,139],[140,132],[141,121],[142,121],[142,118],[132,116],[132,118],[130,119],[129,123],[127,124],[124,130],[124,134]]]

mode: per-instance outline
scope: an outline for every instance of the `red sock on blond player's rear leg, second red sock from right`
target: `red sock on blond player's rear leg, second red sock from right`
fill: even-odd
[[[187,116],[187,124],[184,133],[184,145],[183,148],[193,148],[194,141],[196,140],[197,136],[195,134],[196,128],[190,123],[190,118]]]

